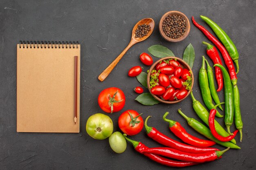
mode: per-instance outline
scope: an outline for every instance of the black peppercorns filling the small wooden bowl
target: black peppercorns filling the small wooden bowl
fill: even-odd
[[[186,32],[186,20],[180,15],[168,15],[163,21],[162,28],[166,36],[180,38]]]

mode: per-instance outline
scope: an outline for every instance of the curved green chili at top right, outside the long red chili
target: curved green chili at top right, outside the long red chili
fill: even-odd
[[[239,54],[238,54],[235,44],[229,38],[227,33],[225,33],[225,31],[223,31],[223,29],[221,29],[220,26],[218,26],[215,22],[213,22],[212,20],[210,20],[209,18],[207,18],[205,16],[200,15],[200,17],[211,27],[213,32],[217,35],[217,37],[220,39],[222,44],[227,49],[229,56],[236,64],[236,74],[237,74],[239,71],[239,65],[238,65]]]

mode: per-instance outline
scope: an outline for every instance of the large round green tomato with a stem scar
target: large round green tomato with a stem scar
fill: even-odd
[[[96,113],[88,118],[86,132],[94,139],[106,139],[113,132],[113,122],[109,116]]]

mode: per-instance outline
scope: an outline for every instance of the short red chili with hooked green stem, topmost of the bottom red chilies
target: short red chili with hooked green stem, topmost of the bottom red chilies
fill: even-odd
[[[216,144],[214,141],[203,140],[190,135],[188,132],[186,132],[186,130],[181,126],[179,122],[166,119],[166,116],[168,114],[169,112],[166,112],[164,114],[163,116],[164,121],[169,122],[170,130],[182,141],[186,142],[187,144],[198,146],[198,147],[209,147]],[[147,117],[146,121],[148,120],[148,118],[149,117]]]

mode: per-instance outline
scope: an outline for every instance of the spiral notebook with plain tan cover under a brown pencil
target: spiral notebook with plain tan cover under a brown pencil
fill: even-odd
[[[17,44],[17,132],[79,132],[79,102],[78,42]]]

